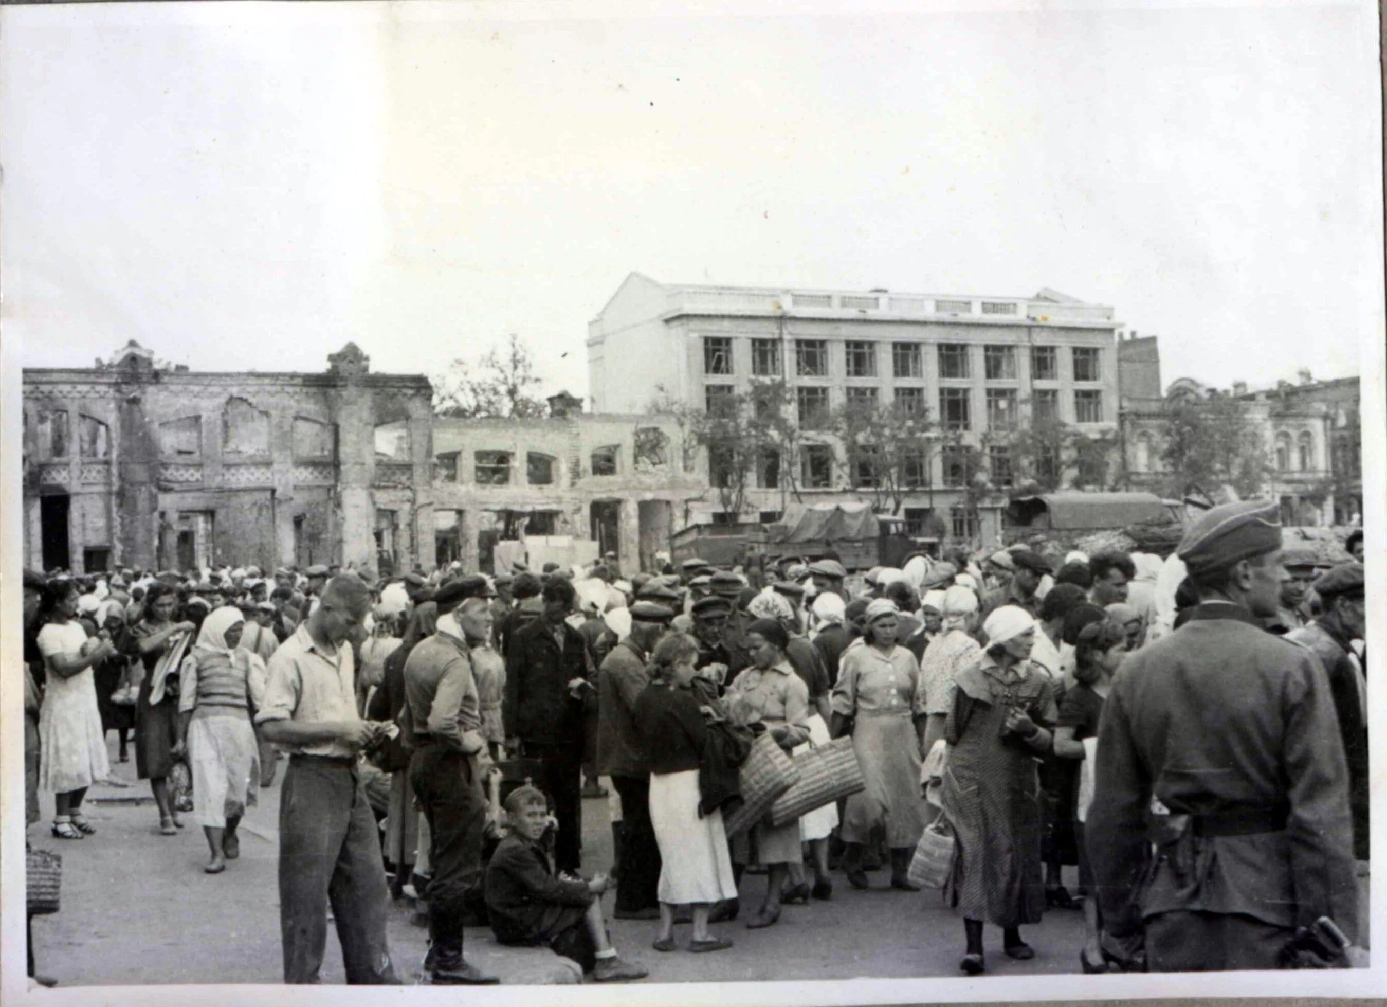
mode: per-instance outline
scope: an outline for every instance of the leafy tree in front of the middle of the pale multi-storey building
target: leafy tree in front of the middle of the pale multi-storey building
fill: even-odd
[[[897,515],[908,492],[933,490],[942,433],[927,413],[899,402],[849,402],[834,412],[829,429],[843,445],[839,466],[847,485],[878,513]]]

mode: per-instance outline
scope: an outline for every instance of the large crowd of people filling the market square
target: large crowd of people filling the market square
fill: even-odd
[[[26,573],[29,823],[51,792],[51,835],[100,841],[83,799],[110,775],[107,732],[121,761],[133,732],[158,834],[189,814],[221,874],[287,761],[286,982],[319,979],[330,921],[348,982],[398,982],[393,893],[427,917],[433,982],[495,982],[463,956],[479,922],[638,979],[609,888],[653,950],[688,922],[689,952],[718,952],[714,924],[773,927],[835,899],[835,874],[920,892],[927,831],[953,845],[967,974],[986,970],[985,925],[1026,960],[1054,910],[1083,913],[1085,972],[1345,964],[1368,946],[1361,533],[1348,548],[1283,551],[1275,508],[1247,502],[1165,556],[1037,538],[861,577],[835,555],[383,583]],[[791,757],[850,738],[863,786],[730,835],[761,735]],[[598,775],[614,857],[594,872]],[[748,874],[766,882],[743,909]]]

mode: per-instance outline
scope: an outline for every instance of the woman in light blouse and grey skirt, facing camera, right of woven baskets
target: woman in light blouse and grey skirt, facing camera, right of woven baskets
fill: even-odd
[[[896,642],[895,602],[871,602],[863,623],[861,642],[843,651],[832,698],[832,734],[839,738],[852,732],[867,784],[843,810],[843,870],[853,888],[867,888],[863,846],[881,829],[890,847],[890,886],[918,892],[906,874],[925,831],[920,731],[913,713],[920,667],[915,656]]]

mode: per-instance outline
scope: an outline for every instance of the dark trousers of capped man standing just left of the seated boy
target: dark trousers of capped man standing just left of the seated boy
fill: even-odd
[[[409,785],[429,821],[430,964],[462,965],[462,928],[467,893],[481,872],[487,799],[477,760],[434,741],[423,741],[409,760]]]

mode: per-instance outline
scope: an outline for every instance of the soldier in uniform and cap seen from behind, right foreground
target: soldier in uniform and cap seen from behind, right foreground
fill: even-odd
[[[1280,549],[1272,502],[1204,513],[1178,549],[1200,603],[1128,655],[1108,694],[1085,831],[1103,949],[1129,965],[1144,950],[1154,972],[1279,968],[1322,917],[1354,938],[1329,678],[1261,623],[1280,598]],[[1169,818],[1148,836],[1153,798]]]

